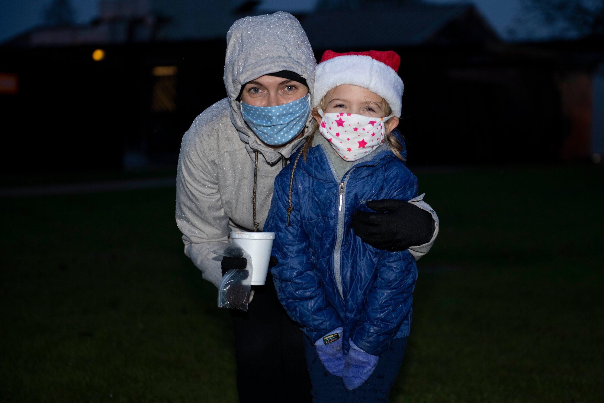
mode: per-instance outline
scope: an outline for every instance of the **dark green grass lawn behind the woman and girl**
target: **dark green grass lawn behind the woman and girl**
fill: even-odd
[[[442,229],[391,401],[600,401],[604,169],[417,176]],[[0,199],[0,402],[237,401],[228,312],[174,199]]]

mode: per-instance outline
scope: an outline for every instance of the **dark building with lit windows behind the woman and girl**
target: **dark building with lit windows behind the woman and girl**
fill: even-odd
[[[225,96],[226,31],[237,18],[276,11],[274,3],[103,0],[91,24],[34,28],[6,42],[3,168],[175,166],[194,117]],[[467,4],[310,1],[295,15],[318,59],[327,48],[401,55],[399,128],[412,165],[604,151],[594,118],[602,41],[506,44]],[[367,21],[359,29],[333,16]],[[18,150],[24,158],[14,165]]]

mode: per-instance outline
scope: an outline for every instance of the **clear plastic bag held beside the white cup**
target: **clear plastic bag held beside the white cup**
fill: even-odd
[[[216,255],[231,258],[245,258],[245,269],[228,270],[222,276],[218,289],[219,308],[237,308],[245,312],[248,310],[249,296],[252,290],[252,257],[238,244],[231,242],[212,251]]]

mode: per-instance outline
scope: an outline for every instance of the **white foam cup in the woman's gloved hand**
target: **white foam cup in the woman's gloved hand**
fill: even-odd
[[[231,239],[252,257],[252,286],[263,286],[266,283],[275,233],[237,231],[231,232]]]

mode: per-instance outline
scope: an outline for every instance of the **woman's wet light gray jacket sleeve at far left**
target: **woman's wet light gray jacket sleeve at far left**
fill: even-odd
[[[222,208],[215,163],[196,147],[195,133],[185,134],[176,177],[176,223],[182,232],[185,255],[205,280],[220,286],[222,257],[212,253],[228,241],[228,216]]]

